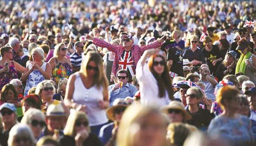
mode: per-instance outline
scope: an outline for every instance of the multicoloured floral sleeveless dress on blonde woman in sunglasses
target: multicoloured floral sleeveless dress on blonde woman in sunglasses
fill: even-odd
[[[57,59],[55,60],[57,65],[52,70],[52,80],[58,85],[59,80],[63,78],[68,79],[73,70],[69,63],[60,63]]]

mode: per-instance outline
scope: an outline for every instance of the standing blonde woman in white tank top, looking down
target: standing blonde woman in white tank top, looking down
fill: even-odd
[[[76,111],[85,111],[91,132],[98,136],[100,128],[108,122],[108,82],[102,59],[97,53],[88,53],[81,70],[69,77],[64,103]]]

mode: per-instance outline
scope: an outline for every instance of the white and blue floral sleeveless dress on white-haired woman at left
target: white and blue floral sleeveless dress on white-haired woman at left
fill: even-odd
[[[43,62],[43,65],[41,66],[41,68],[45,71],[46,69],[46,64],[45,62]],[[28,64],[28,69],[31,70],[32,68],[32,64],[29,63]],[[43,76],[43,74],[37,70],[34,69],[33,72],[31,72],[28,75],[28,79],[27,79],[27,83],[26,83],[26,87],[25,87],[25,91],[24,91],[24,96],[28,95],[28,90],[31,89],[32,87],[36,87],[38,83],[40,83],[41,81],[45,80],[45,77]]]

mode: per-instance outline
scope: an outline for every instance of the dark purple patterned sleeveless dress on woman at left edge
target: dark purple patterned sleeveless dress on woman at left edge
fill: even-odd
[[[5,66],[0,66],[0,69],[4,68]],[[18,78],[18,72],[14,67],[14,63],[9,65],[9,72],[2,72],[0,74],[0,90],[2,90],[3,86],[9,83],[12,79]]]

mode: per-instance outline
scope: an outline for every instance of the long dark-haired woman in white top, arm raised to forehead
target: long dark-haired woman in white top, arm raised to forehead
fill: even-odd
[[[169,104],[174,98],[166,60],[159,51],[159,49],[150,49],[143,53],[137,64],[136,77],[140,85],[141,103],[161,107]],[[147,57],[150,58],[146,64]]]

